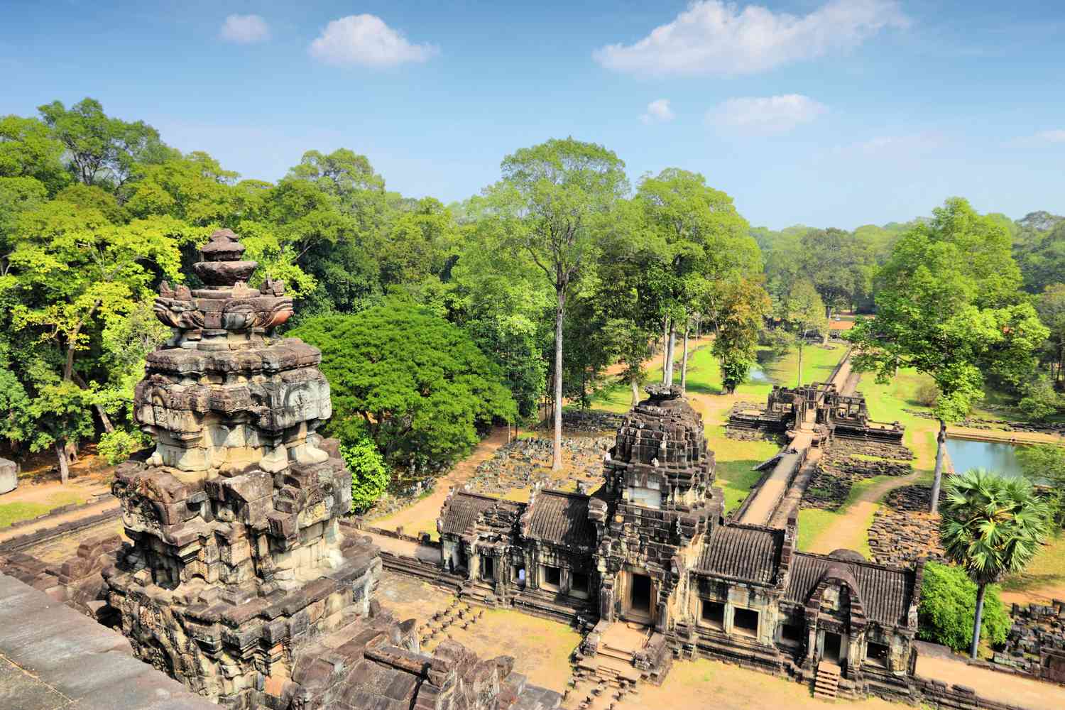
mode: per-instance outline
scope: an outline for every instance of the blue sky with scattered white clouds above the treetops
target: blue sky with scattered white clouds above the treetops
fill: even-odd
[[[0,0],[0,114],[92,96],[244,177],[347,147],[444,201],[573,135],[753,225],[1017,218],[1065,212],[1063,36],[1055,1]]]

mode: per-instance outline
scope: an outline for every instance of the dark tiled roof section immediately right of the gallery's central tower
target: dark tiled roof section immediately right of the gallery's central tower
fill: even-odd
[[[781,564],[784,531],[718,525],[699,554],[698,571],[772,584]]]

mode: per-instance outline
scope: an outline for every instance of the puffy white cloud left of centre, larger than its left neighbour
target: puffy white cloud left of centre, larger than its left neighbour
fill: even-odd
[[[327,64],[390,67],[425,62],[440,50],[432,45],[410,44],[376,15],[348,15],[329,22],[309,51]]]

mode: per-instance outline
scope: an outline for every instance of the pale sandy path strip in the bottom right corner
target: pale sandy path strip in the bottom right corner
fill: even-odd
[[[917,675],[968,686],[982,697],[1031,710],[1065,708],[1065,688],[1061,686],[973,667],[962,660],[920,654],[917,657]]]

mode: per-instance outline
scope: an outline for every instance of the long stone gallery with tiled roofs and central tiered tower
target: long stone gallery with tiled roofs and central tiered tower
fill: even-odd
[[[832,696],[913,698],[922,566],[799,552],[794,517],[726,519],[702,417],[676,387],[649,393],[593,494],[538,490],[521,503],[452,492],[441,563],[462,594],[594,623],[579,663],[605,677],[660,682],[674,657],[709,657]]]

